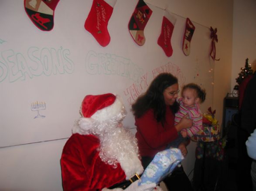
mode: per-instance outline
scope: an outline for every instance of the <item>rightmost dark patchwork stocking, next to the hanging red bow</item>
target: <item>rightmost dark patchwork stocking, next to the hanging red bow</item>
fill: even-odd
[[[193,25],[191,20],[189,20],[189,18],[187,18],[186,29],[185,29],[185,33],[183,36],[183,43],[182,43],[183,53],[186,56],[188,56],[190,53],[190,42],[191,42],[194,31],[195,31],[195,26]]]

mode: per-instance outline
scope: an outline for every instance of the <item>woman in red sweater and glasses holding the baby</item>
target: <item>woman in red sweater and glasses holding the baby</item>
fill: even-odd
[[[185,115],[181,121],[174,125],[174,115],[179,105],[176,102],[178,94],[178,80],[170,73],[159,74],[150,84],[147,92],[141,95],[132,105],[136,138],[143,168],[149,165],[157,152],[166,149],[184,128],[193,125],[192,120]],[[183,156],[187,155],[186,145],[182,142],[178,148]],[[191,191],[191,183],[182,166],[175,168],[171,175],[164,179],[170,191]]]

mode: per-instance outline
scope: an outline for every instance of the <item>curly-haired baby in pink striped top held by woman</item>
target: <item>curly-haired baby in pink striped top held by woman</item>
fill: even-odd
[[[193,126],[181,130],[177,139],[171,142],[167,148],[175,147],[184,141],[185,138],[191,138],[202,129],[202,113],[199,104],[205,101],[206,92],[195,83],[185,85],[181,90],[182,97],[177,99],[179,111],[175,114],[175,125],[180,122],[181,118],[188,113],[189,118],[193,120]]]

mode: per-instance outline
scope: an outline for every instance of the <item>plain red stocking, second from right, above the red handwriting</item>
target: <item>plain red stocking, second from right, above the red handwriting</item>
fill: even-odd
[[[172,55],[173,49],[171,47],[171,35],[174,30],[174,25],[176,23],[176,18],[171,16],[166,10],[164,13],[162,21],[161,34],[157,40],[157,44],[162,47],[166,56],[170,57]]]

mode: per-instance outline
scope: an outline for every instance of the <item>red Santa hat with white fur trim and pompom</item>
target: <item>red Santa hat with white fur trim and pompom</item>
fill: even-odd
[[[78,126],[74,126],[73,133],[86,134],[99,123],[112,119],[124,109],[119,96],[112,93],[102,95],[86,95],[81,105],[82,118]]]

